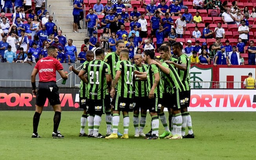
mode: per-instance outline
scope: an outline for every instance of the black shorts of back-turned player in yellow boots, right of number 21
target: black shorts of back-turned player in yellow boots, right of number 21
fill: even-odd
[[[113,111],[133,111],[134,103],[132,102],[132,98],[123,98],[117,95],[115,99],[115,105],[113,105]]]

